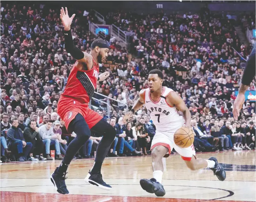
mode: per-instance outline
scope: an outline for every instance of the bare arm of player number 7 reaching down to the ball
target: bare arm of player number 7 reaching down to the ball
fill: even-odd
[[[176,92],[169,93],[166,97],[166,101],[170,106],[175,106],[179,111],[183,113],[185,125],[187,127],[190,127],[191,113],[183,99],[181,99],[181,97],[179,96],[179,94]]]

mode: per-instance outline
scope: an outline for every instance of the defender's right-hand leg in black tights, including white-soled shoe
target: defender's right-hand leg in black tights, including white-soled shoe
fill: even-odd
[[[102,134],[103,137],[97,146],[95,161],[92,170],[89,171],[88,175],[85,178],[85,182],[96,185],[99,188],[109,190],[111,189],[111,186],[103,181],[101,167],[109,151],[109,148],[115,139],[116,131],[103,118],[97,124],[95,124],[95,126],[93,126],[91,130],[96,132],[97,134]]]

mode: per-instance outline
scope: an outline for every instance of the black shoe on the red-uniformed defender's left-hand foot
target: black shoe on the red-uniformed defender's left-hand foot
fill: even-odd
[[[58,167],[55,169],[54,173],[51,175],[51,181],[53,185],[55,186],[57,192],[60,194],[69,194],[69,190],[66,188],[65,179],[67,179],[66,174],[67,173],[58,173],[57,172]]]

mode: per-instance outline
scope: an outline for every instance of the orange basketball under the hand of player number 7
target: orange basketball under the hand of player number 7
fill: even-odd
[[[190,147],[194,142],[194,131],[192,128],[181,127],[175,132],[173,140],[180,148]]]

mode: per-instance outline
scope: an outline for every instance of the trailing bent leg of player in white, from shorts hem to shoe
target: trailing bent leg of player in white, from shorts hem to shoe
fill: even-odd
[[[175,145],[174,148],[181,155],[181,158],[185,161],[187,167],[191,170],[194,171],[210,168],[213,171],[213,174],[216,175],[220,181],[224,181],[226,179],[226,172],[222,165],[218,164],[215,157],[211,157],[209,160],[196,158],[194,145],[191,145],[188,148],[180,148]]]

